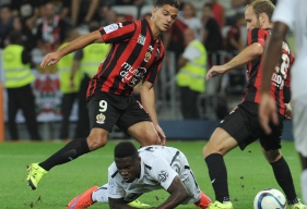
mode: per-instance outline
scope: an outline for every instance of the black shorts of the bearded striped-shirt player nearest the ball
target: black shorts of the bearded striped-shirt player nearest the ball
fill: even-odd
[[[243,102],[217,125],[234,137],[240,149],[259,139],[261,146],[268,150],[281,148],[284,116],[279,114],[279,125],[270,123],[272,133],[267,135],[259,123],[258,103]]]

